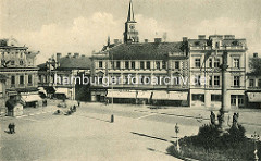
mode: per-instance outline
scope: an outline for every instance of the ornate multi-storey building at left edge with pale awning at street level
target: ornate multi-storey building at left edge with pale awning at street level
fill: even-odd
[[[39,52],[28,51],[25,46],[11,39],[0,40],[0,72],[7,77],[7,97],[22,100],[25,106],[36,106],[40,98],[37,95],[36,55]]]

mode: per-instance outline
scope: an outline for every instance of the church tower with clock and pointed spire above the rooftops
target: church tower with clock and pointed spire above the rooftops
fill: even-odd
[[[124,35],[124,42],[138,42],[138,32],[136,30],[136,23],[134,20],[134,11],[133,11],[133,1],[129,1],[128,7],[128,16],[125,23],[125,32]]]

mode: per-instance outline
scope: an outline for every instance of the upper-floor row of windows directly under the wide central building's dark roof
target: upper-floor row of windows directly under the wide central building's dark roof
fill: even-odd
[[[125,61],[125,69],[132,69],[135,70],[137,69],[137,62],[135,61]],[[121,69],[121,61],[112,61],[111,62],[111,66],[112,69]],[[99,69],[103,69],[103,62],[99,61]],[[150,61],[140,61],[139,62],[139,69],[151,69],[151,62]],[[166,62],[165,61],[156,61],[156,69],[160,70],[160,69],[166,69]],[[175,69],[179,69],[179,62],[176,61],[175,62]]]

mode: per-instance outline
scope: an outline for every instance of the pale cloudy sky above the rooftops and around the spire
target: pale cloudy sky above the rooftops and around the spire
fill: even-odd
[[[57,52],[90,55],[123,38],[129,0],[0,0],[0,36],[40,50],[38,63]],[[140,41],[167,33],[167,41],[197,35],[247,38],[261,55],[261,0],[133,0]]]

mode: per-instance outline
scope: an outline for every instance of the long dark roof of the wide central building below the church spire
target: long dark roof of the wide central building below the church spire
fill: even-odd
[[[166,59],[169,53],[183,52],[181,47],[182,41],[121,44],[109,49],[109,53],[113,60],[162,60]]]

